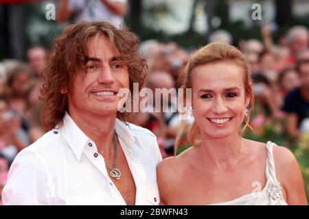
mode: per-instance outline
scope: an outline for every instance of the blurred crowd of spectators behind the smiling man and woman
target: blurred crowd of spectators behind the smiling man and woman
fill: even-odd
[[[284,126],[280,131],[297,140],[302,131],[309,131],[308,29],[292,27],[276,43],[269,25],[262,27],[261,34],[262,42],[239,40],[236,45],[246,55],[253,77],[256,110],[250,126],[258,134],[262,125],[281,119]],[[209,41],[231,44],[233,39],[227,31],[218,30]],[[179,88],[179,75],[192,51],[176,42],[157,40],[141,42],[140,50],[148,64],[148,88]],[[0,60],[0,194],[16,154],[45,133],[40,122],[39,87],[46,53],[43,47],[31,47],[26,62]],[[167,105],[175,109],[172,100],[168,99]],[[155,133],[163,158],[174,155],[181,125],[180,115],[172,111],[137,112],[128,120]]]

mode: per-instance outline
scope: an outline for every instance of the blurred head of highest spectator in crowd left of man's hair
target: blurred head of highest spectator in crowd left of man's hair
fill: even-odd
[[[45,66],[46,51],[43,47],[31,47],[27,51],[27,64],[32,68],[36,77],[42,77]]]

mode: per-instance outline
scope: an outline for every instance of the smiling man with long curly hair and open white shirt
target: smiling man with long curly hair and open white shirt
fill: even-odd
[[[56,38],[41,84],[48,132],[16,156],[3,204],[159,204],[156,138],[118,110],[119,90],[144,81],[138,44],[104,22],[69,25]]]

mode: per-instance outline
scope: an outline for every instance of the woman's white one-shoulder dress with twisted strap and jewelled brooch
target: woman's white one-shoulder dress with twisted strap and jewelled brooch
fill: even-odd
[[[214,203],[211,205],[288,205],[282,196],[282,188],[276,178],[275,160],[273,159],[273,146],[275,143],[266,143],[266,186],[260,192],[253,192],[236,198],[232,201]]]

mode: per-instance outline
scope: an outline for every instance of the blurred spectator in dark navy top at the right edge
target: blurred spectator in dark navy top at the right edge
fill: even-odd
[[[284,99],[286,131],[293,138],[299,137],[301,122],[309,117],[309,60],[297,62],[301,86],[292,90]]]

